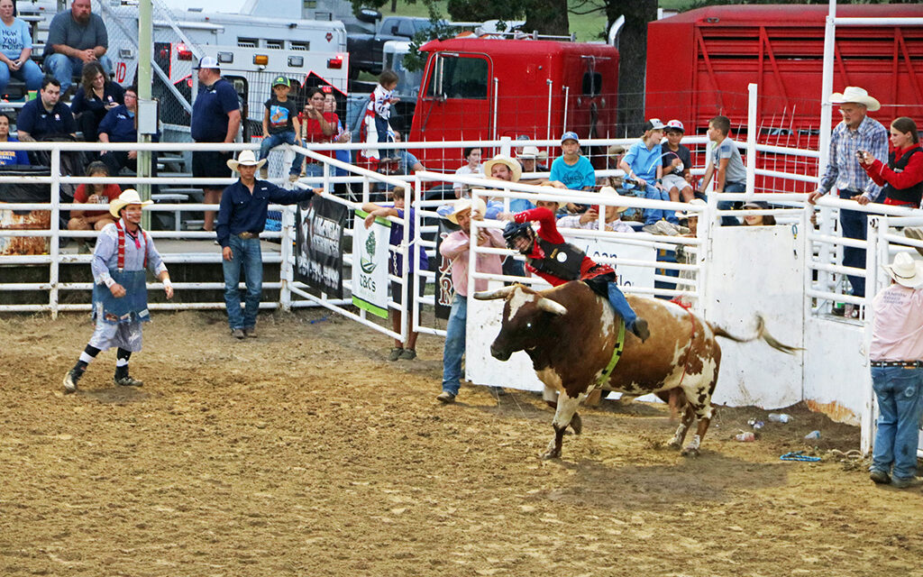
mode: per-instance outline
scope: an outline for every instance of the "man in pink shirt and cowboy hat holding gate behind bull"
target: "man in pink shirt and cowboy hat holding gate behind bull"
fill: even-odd
[[[454,210],[448,215],[451,222],[458,224],[462,230],[446,236],[439,246],[439,253],[450,258],[452,263],[452,286],[455,296],[452,298],[452,308],[449,314],[449,323],[446,325],[446,345],[442,351],[442,392],[437,400],[442,403],[454,403],[455,397],[462,386],[462,356],[465,345],[465,324],[468,319],[468,259],[471,248],[471,221],[481,221],[487,207],[484,200],[478,198],[460,198],[455,202]],[[493,246],[506,248],[503,236],[496,230],[479,229],[477,232],[478,246]],[[500,274],[503,267],[499,255],[478,254],[475,261],[478,272]],[[487,281],[476,279],[475,291],[485,291]]]

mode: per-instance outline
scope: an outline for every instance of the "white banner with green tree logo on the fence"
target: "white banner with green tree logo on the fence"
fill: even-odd
[[[366,229],[363,210],[353,221],[353,304],[388,318],[388,258],[391,222],[375,219]]]

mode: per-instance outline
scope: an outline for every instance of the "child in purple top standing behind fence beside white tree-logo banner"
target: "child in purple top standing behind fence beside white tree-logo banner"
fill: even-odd
[[[419,296],[423,296],[424,287],[426,285],[426,279],[422,277],[419,279],[419,282],[414,282],[414,269],[419,267],[419,269],[416,270],[428,270],[429,259],[426,258],[426,250],[423,246],[414,245],[414,209],[409,208],[409,210],[405,210],[404,208],[410,207],[410,205],[413,204],[414,198],[405,198],[402,186],[396,186],[391,191],[391,197],[394,199],[394,203],[391,205],[378,205],[372,202],[366,202],[366,204],[362,206],[362,210],[368,212],[368,216],[366,217],[366,228],[370,227],[378,217],[384,218],[393,216],[399,219],[406,219],[405,222],[408,223],[410,246],[407,248],[407,254],[414,255],[414,253],[416,253],[416,256],[412,256],[407,263],[407,283],[402,286],[400,282],[391,281],[391,299],[402,304],[402,308],[397,310],[391,309],[391,329],[394,332],[400,333],[402,309],[406,308],[410,311],[411,305],[414,302],[414,292]],[[399,247],[402,246],[404,242],[404,227],[402,224],[392,223],[390,229],[391,256],[388,261],[388,270],[390,274],[394,276],[403,276],[403,256]],[[420,318],[421,307],[422,305],[418,304],[416,308],[417,319]],[[407,322],[413,323],[413,320],[407,319]],[[398,339],[394,340],[394,348],[391,349],[388,360],[396,361],[400,358],[412,361],[416,358],[416,337],[418,333],[413,331],[412,324],[411,329],[412,330],[407,334],[406,343],[402,343]]]

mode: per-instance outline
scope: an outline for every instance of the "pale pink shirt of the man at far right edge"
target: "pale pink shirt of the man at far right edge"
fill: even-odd
[[[873,361],[923,360],[923,289],[896,282],[872,301],[875,325],[869,359]]]

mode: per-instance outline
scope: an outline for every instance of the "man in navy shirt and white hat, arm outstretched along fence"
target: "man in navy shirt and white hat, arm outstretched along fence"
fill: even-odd
[[[224,189],[215,227],[218,244],[222,246],[224,304],[231,334],[236,339],[257,336],[257,313],[263,291],[263,255],[259,234],[266,225],[267,207],[270,202],[295,204],[319,194],[319,189],[285,190],[268,181],[257,180],[257,169],[265,163],[266,159],[257,160],[253,150],[244,150],[237,160],[227,162],[228,168],[240,174],[240,178]],[[246,283],[243,313],[239,290],[242,268]]]

